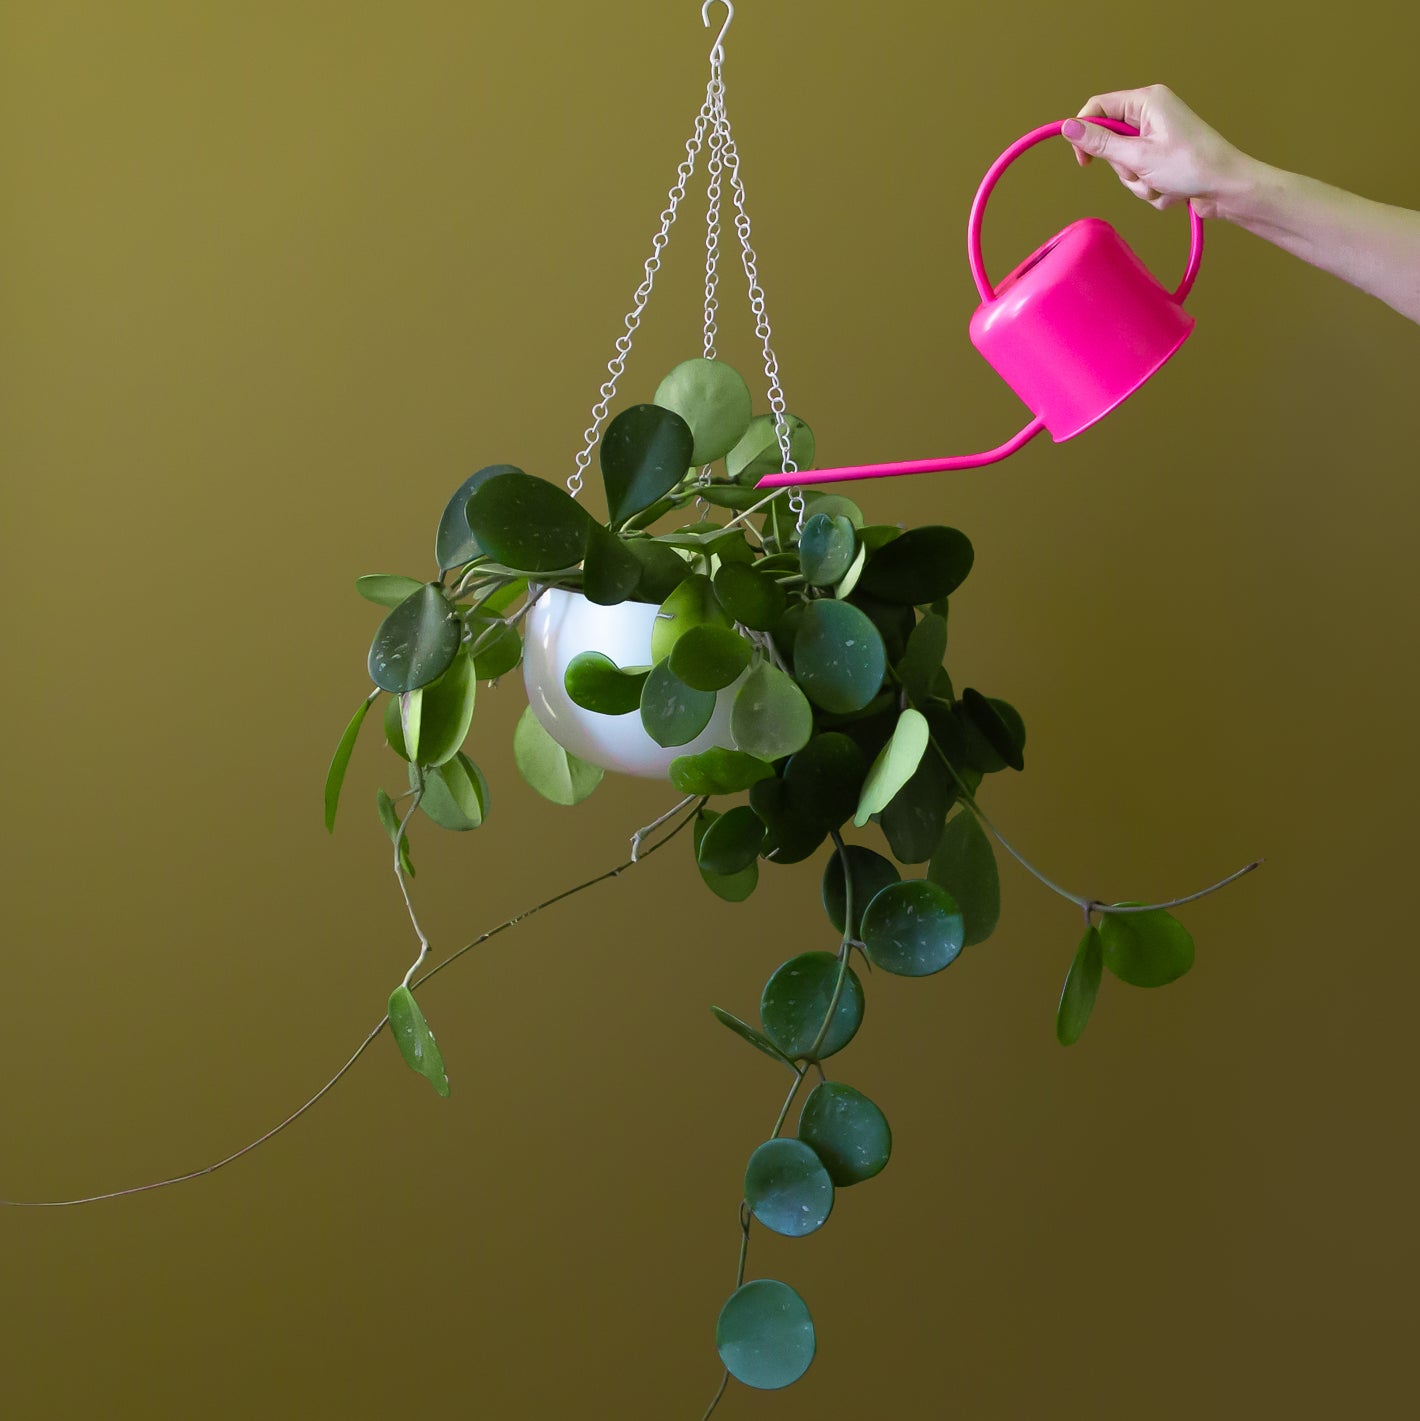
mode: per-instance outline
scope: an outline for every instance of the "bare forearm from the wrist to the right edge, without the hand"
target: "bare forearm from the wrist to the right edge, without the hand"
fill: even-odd
[[[1420,321],[1420,212],[1247,159],[1218,216]]]

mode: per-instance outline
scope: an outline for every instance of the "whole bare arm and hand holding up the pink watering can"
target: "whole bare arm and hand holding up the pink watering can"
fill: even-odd
[[[1103,158],[1136,198],[1163,210],[1193,202],[1420,323],[1420,212],[1249,158],[1163,84],[1096,94],[1079,118],[1119,118],[1137,138],[1070,119],[1080,165]]]

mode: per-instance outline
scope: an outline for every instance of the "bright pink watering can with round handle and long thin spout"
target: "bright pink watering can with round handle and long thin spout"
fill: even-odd
[[[1113,118],[1092,118],[1117,134],[1139,129]],[[984,453],[870,463],[850,469],[772,473],[756,487],[937,473],[995,463],[1042,429],[1056,443],[1073,439],[1127,399],[1188,338],[1194,318],[1183,300],[1203,260],[1203,219],[1188,207],[1188,266],[1176,291],[1160,286],[1124,239],[1100,217],[1082,217],[1032,252],[992,287],[981,260],[981,219],[998,179],[1028,148],[1055,138],[1063,122],[1018,138],[988,169],[967,222],[967,256],[981,293],[971,317],[971,341],[1035,418]]]

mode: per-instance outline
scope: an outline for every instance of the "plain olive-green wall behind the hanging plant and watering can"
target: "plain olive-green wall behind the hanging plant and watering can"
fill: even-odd
[[[967,209],[1092,91],[1167,81],[1261,156],[1420,205],[1402,10],[743,0],[731,117],[820,462],[1019,426],[967,340]],[[570,470],[708,40],[689,0],[0,9],[0,1194],[219,1158],[378,1019],[414,951],[378,735],[320,821],[380,615],[353,580],[428,576],[472,469]],[[623,402],[699,351],[702,212]],[[1063,145],[994,199],[991,269],[1087,212],[1181,270],[1183,216]],[[725,271],[721,354],[762,395]],[[984,803],[1052,878],[1160,898],[1268,861],[1184,911],[1188,978],[1106,980],[1069,1052],[1079,914],[1015,865],[989,944],[868,982],[834,1074],[894,1160],[820,1235],[756,1229],[751,1276],[803,1293],[819,1357],[726,1418],[1406,1410],[1420,330],[1222,226],[1190,307],[1080,439],[860,497],[975,541],[950,665],[1025,715],[1026,773]],[[489,826],[415,840],[439,949],[674,800],[536,800],[522,703],[480,701]],[[752,1015],[834,945],[817,867],[731,907],[674,844],[425,989],[449,1101],[381,1039],[210,1178],[0,1214],[7,1412],[699,1417],[785,1084],[708,1006]]]

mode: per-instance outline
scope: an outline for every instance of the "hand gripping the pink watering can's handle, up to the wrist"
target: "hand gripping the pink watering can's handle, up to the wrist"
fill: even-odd
[[[1096,115],[1120,118],[1137,128],[1139,136],[1079,121]],[[1251,162],[1163,84],[1096,94],[1079,118],[1066,119],[1063,136],[1080,166],[1103,158],[1119,180],[1151,207],[1163,210],[1191,200],[1200,217],[1220,215],[1220,202],[1245,186]]]

